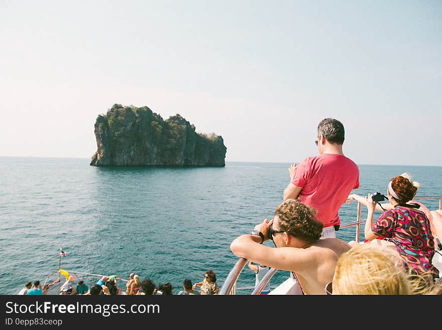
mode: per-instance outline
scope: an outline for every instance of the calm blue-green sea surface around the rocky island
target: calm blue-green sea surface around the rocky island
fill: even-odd
[[[183,279],[199,282],[212,269],[221,287],[238,260],[230,243],[272,217],[289,182],[289,163],[144,168],[89,161],[0,157],[0,294],[16,294],[26,281],[57,271],[60,245],[65,270],[124,279],[134,272],[141,280],[171,282],[176,294]],[[417,195],[442,195],[440,166],[359,168],[358,194],[385,194],[390,178],[409,172],[421,184]],[[438,208],[436,200],[424,203]],[[357,202],[343,205],[342,224],[356,221],[356,212]],[[338,238],[353,240],[355,230],[340,230]],[[272,287],[288,276],[278,272]],[[250,294],[254,283],[246,266],[237,293]]]

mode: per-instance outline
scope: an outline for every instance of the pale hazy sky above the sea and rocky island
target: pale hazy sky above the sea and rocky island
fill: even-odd
[[[81,157],[114,103],[179,113],[226,161],[442,165],[442,1],[0,0],[0,156]]]

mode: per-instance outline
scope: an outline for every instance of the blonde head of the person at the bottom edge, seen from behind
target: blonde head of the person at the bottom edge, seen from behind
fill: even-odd
[[[333,294],[412,294],[403,260],[392,249],[361,244],[338,260]]]

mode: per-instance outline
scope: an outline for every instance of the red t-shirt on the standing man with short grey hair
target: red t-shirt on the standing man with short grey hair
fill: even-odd
[[[317,210],[325,227],[340,225],[338,215],[353,189],[359,188],[359,168],[350,158],[336,154],[307,157],[297,167],[291,181],[302,187],[299,197]]]

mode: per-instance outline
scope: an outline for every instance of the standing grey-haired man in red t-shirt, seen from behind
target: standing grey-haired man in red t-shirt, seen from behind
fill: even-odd
[[[319,156],[307,157],[289,167],[290,183],[284,190],[284,200],[300,197],[317,210],[317,219],[324,224],[321,239],[336,238],[341,220],[340,207],[353,189],[359,188],[359,168],[344,156],[344,125],[325,118],[317,127],[316,145]]]

